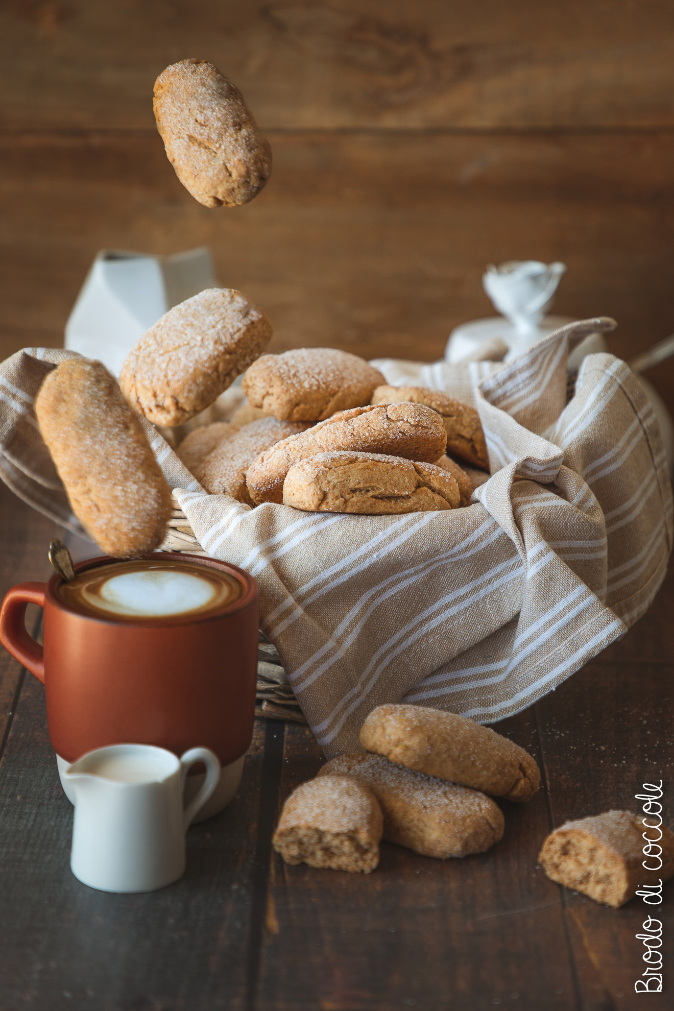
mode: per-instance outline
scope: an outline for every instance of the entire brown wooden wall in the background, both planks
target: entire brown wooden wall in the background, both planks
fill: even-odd
[[[0,0],[0,354],[60,345],[99,248],[207,244],[271,350],[432,360],[489,262],[563,260],[555,311],[629,357],[674,331],[671,0]],[[210,60],[267,132],[246,207],[181,187],[152,111]],[[671,362],[650,378],[667,393]]]

